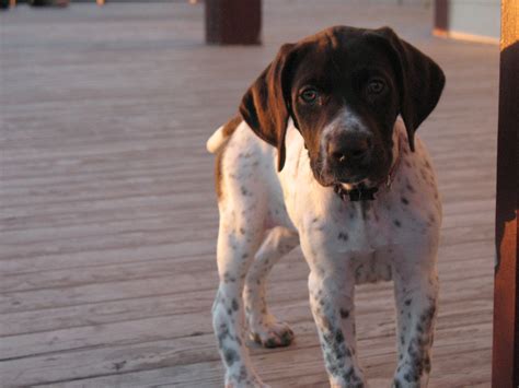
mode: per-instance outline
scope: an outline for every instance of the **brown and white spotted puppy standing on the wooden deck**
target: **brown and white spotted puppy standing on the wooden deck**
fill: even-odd
[[[245,93],[241,117],[208,140],[218,153],[220,285],[212,314],[226,386],[264,386],[243,318],[263,345],[291,342],[288,325],[268,311],[265,279],[297,245],[310,267],[331,385],[366,385],[354,291],[379,280],[395,286],[394,386],[427,385],[441,204],[415,131],[443,84],[441,69],[392,30],[331,27],[284,45]]]

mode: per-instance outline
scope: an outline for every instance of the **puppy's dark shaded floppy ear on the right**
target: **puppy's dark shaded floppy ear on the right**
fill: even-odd
[[[410,148],[414,151],[414,133],[438,104],[446,78],[432,59],[401,39],[390,27],[374,33],[387,39],[394,55],[400,83],[400,114],[407,129]]]

